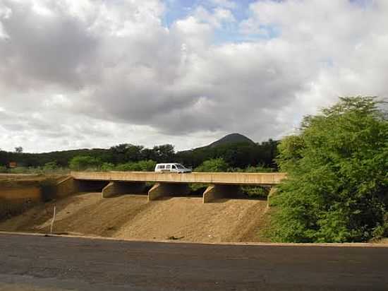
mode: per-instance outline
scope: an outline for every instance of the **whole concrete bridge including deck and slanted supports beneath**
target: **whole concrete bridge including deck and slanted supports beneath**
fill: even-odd
[[[194,172],[186,174],[157,172],[71,172],[71,177],[61,182],[60,192],[96,191],[102,189],[102,197],[121,194],[144,193],[147,182],[154,182],[148,191],[148,201],[163,196],[186,195],[188,184],[207,184],[203,203],[217,198],[235,196],[240,186],[257,185],[272,187],[286,178],[286,173]]]

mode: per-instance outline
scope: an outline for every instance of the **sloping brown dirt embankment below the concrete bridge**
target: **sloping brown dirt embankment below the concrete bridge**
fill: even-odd
[[[145,195],[101,198],[78,194],[44,203],[0,222],[0,230],[47,232],[56,206],[55,232],[125,239],[190,242],[262,242],[266,201],[231,199],[202,204],[200,197],[147,203]]]

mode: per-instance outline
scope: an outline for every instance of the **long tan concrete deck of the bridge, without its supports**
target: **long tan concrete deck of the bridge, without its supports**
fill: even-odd
[[[276,185],[286,173],[193,172],[186,174],[157,172],[71,172],[78,180],[209,183],[238,185]]]

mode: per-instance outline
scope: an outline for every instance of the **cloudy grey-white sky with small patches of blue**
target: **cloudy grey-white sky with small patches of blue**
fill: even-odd
[[[280,138],[387,73],[387,0],[0,0],[0,148]]]

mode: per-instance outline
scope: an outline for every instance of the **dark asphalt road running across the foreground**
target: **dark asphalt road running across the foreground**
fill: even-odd
[[[0,234],[0,290],[388,290],[388,247]]]

